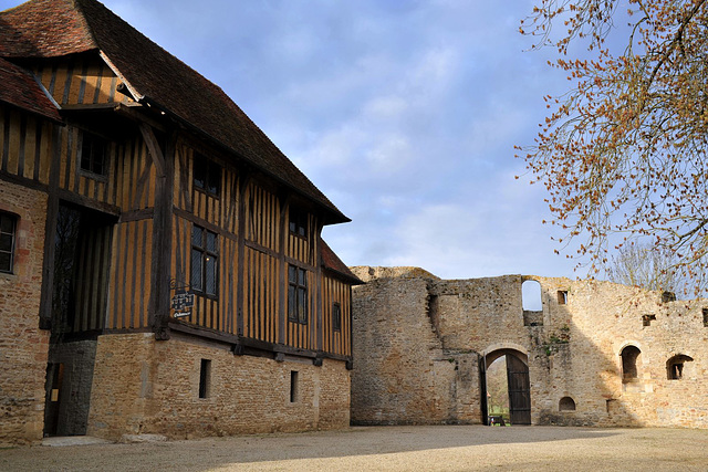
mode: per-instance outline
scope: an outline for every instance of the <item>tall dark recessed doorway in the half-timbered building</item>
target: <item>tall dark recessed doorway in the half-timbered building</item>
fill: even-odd
[[[44,436],[86,433],[115,218],[60,203],[54,233]]]

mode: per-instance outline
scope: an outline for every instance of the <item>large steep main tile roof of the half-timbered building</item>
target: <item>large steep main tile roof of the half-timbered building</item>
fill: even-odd
[[[30,0],[0,12],[0,57],[55,57],[101,51],[143,103],[196,132],[325,210],[350,221],[221,88],[95,0]]]

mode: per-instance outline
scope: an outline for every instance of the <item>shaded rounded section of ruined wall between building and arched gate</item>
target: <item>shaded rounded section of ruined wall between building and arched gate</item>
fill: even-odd
[[[384,277],[356,289],[352,419],[357,424],[457,418],[455,359],[426,316],[428,280]]]

